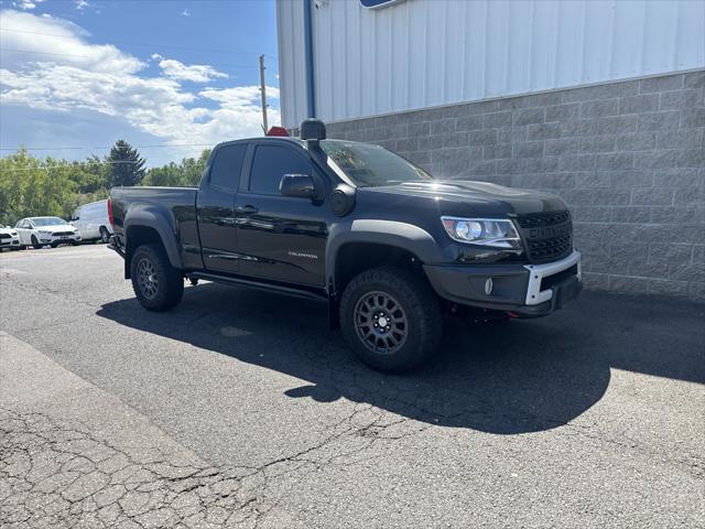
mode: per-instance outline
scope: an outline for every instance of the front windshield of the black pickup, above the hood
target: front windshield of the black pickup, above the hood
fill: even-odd
[[[350,180],[362,187],[433,180],[423,169],[379,145],[323,140],[321,148]]]

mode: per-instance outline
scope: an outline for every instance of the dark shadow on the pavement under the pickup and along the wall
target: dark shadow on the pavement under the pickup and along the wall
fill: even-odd
[[[661,300],[659,300],[661,301]],[[345,398],[429,424],[516,434],[577,418],[605,393],[610,368],[702,382],[703,305],[585,292],[554,315],[474,324],[446,320],[438,357],[414,373],[376,373],[327,328],[323,304],[205,283],[169,313],[133,299],[98,315],[306,382],[291,398]],[[234,382],[235,384],[235,382]]]

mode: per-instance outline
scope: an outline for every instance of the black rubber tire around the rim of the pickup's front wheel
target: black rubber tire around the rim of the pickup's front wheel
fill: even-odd
[[[360,307],[368,310],[365,300],[372,293],[387,295],[401,305],[406,334],[403,341],[398,341],[401,346],[395,350],[375,352],[371,347],[376,347],[377,341],[370,344],[370,338],[362,338],[365,324],[360,325],[360,321],[366,321],[366,316]],[[380,371],[403,373],[419,367],[435,354],[443,334],[443,321],[438,300],[425,278],[402,268],[380,267],[361,272],[346,287],[340,299],[340,328],[350,348],[365,364]]]

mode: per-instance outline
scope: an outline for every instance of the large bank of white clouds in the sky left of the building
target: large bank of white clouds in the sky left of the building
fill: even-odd
[[[191,93],[180,80],[205,83],[227,76],[207,65],[184,65],[154,54],[152,58],[159,61],[163,75],[147,77],[142,74],[147,66],[143,62],[115,46],[87,43],[85,31],[73,23],[18,11],[0,14],[3,25],[33,32],[1,32],[2,48],[32,46],[31,50],[37,52],[64,54],[13,55],[1,50],[0,102],[3,106],[48,111],[62,123],[78,110],[99,112],[127,120],[169,144],[215,144],[261,134],[258,86],[209,87]],[[271,99],[279,97],[275,87],[268,87],[267,93]],[[270,108],[269,118],[271,123],[279,123],[279,110]],[[28,140],[18,139],[18,143],[22,141]],[[184,148],[175,154],[193,155],[199,149]]]

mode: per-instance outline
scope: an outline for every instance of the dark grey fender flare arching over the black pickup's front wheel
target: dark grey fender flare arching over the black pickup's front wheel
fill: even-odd
[[[372,242],[406,250],[422,263],[441,262],[443,250],[425,229],[398,220],[354,219],[338,223],[328,233],[326,242],[326,279],[328,295],[336,295],[336,263],[340,249],[351,242]]]

